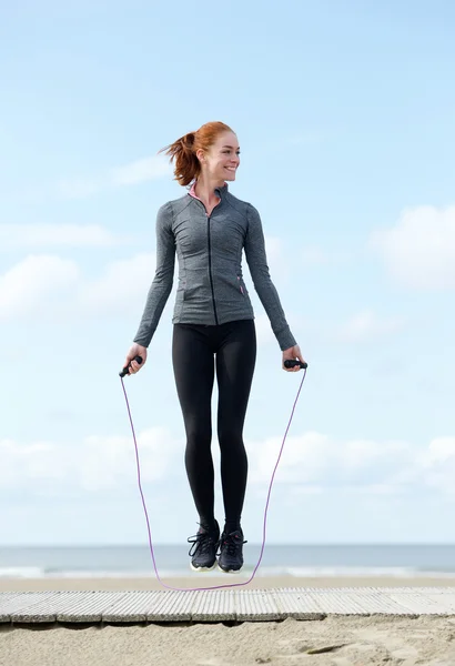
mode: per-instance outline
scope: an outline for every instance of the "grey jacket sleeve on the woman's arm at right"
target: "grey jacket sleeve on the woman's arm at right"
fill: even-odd
[[[244,243],[245,258],[254,289],[270,319],[272,331],[280,344],[280,349],[284,351],[297,343],[287,325],[280,303],[280,296],[270,276],[260,214],[251,204],[249,204],[247,222],[249,226]]]

